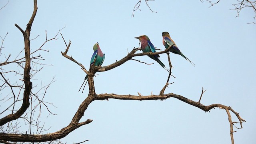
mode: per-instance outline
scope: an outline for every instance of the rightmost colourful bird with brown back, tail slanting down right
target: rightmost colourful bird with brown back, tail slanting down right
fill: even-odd
[[[182,54],[182,52],[180,52],[179,48],[176,46],[175,42],[172,40],[168,32],[162,32],[162,35],[163,35],[163,44],[166,49],[172,46],[169,49],[170,52],[181,55],[183,58],[188,60],[188,62],[190,62],[193,66],[195,66],[195,64],[191,60],[189,60],[186,56],[184,56],[184,54]]]

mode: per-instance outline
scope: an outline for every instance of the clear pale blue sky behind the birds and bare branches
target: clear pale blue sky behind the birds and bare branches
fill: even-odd
[[[256,141],[256,25],[251,8],[244,9],[236,18],[231,11],[232,1],[221,0],[210,7],[208,2],[156,0],[141,4],[132,18],[132,10],[138,0],[39,0],[31,38],[32,50],[45,40],[52,38],[59,29],[66,41],[72,44],[68,54],[82,63],[88,70],[93,53],[92,46],[98,42],[106,54],[103,66],[120,60],[138,47],[136,36],[146,34],[157,48],[162,45],[162,32],[170,33],[182,53],[196,66],[179,55],[171,54],[172,78],[165,93],[180,94],[198,101],[202,87],[207,89],[201,103],[232,106],[246,120],[244,128],[235,129],[237,144],[253,144]],[[234,3],[236,1],[234,0]],[[0,7],[7,0],[0,1]],[[21,32],[14,26],[25,29],[32,15],[32,0],[11,0],[0,10],[0,36],[8,35],[4,42],[5,55],[11,58],[24,47]],[[65,44],[61,36],[44,46],[49,52],[40,51],[44,66],[32,80],[33,86],[48,84],[54,76],[55,82],[48,88],[45,101],[57,116],[44,108],[41,121],[48,132],[56,132],[67,126],[80,103],[88,94],[78,92],[85,73],[74,62],[64,58]],[[2,55],[1,60],[4,60]],[[96,93],[159,94],[166,83],[168,72],[147,56],[137,58],[152,65],[128,61],[107,72],[98,73],[95,81]],[[160,60],[168,65],[166,54]],[[39,66],[40,67],[40,66]],[[13,68],[17,69],[15,65]],[[15,82],[15,80],[14,80]],[[1,97],[8,93],[1,92]],[[0,109],[8,104],[1,103]],[[18,105],[17,105],[18,108]],[[2,117],[2,116],[1,116]],[[233,121],[238,121],[232,115]],[[157,101],[112,100],[94,101],[86,110],[83,120],[93,122],[78,128],[62,139],[63,142],[88,144],[230,144],[230,126],[226,112],[213,109],[204,112],[184,102],[170,98]],[[20,129],[26,133],[28,125]]]

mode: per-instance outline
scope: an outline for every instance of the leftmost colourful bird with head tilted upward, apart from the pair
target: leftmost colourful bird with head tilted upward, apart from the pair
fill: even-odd
[[[105,54],[103,54],[103,52],[100,49],[100,45],[98,44],[98,42],[96,44],[94,44],[93,46],[93,50],[94,53],[92,54],[92,58],[90,61],[90,65],[94,65],[94,66],[101,66],[105,60]],[[88,79],[88,75],[86,74],[85,78],[84,78],[84,82]],[[82,84],[82,86],[84,85],[84,82]],[[87,83],[87,81],[86,81]],[[85,85],[86,85],[85,83]],[[84,87],[85,87],[84,85]],[[82,88],[82,86],[80,87],[80,89]],[[80,91],[80,89],[78,90],[78,92]],[[84,91],[84,89],[83,89]]]

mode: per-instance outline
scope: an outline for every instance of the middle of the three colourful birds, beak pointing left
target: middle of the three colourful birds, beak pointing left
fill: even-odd
[[[150,39],[148,38],[148,36],[142,35],[142,36],[135,37],[135,38],[140,40],[140,46],[141,46],[142,52],[156,52],[156,48],[150,42]],[[160,64],[160,66],[162,66],[165,70],[167,70],[169,72],[169,70],[159,60],[160,56],[158,54],[154,55],[154,56],[149,56],[149,57],[152,58],[153,60],[155,60],[156,62],[158,62],[158,64]]]

